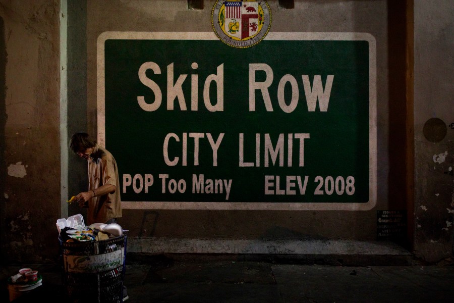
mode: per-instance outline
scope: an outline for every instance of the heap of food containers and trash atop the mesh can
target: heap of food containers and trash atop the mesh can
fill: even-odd
[[[81,214],[68,217],[68,219],[58,219],[56,226],[63,242],[108,240],[121,237],[127,231],[123,230],[117,223],[93,223],[85,226],[84,218]]]

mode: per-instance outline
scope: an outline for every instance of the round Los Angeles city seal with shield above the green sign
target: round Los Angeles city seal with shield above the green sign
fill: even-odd
[[[216,36],[232,47],[246,48],[259,43],[271,27],[271,10],[264,0],[218,0],[211,11]]]

